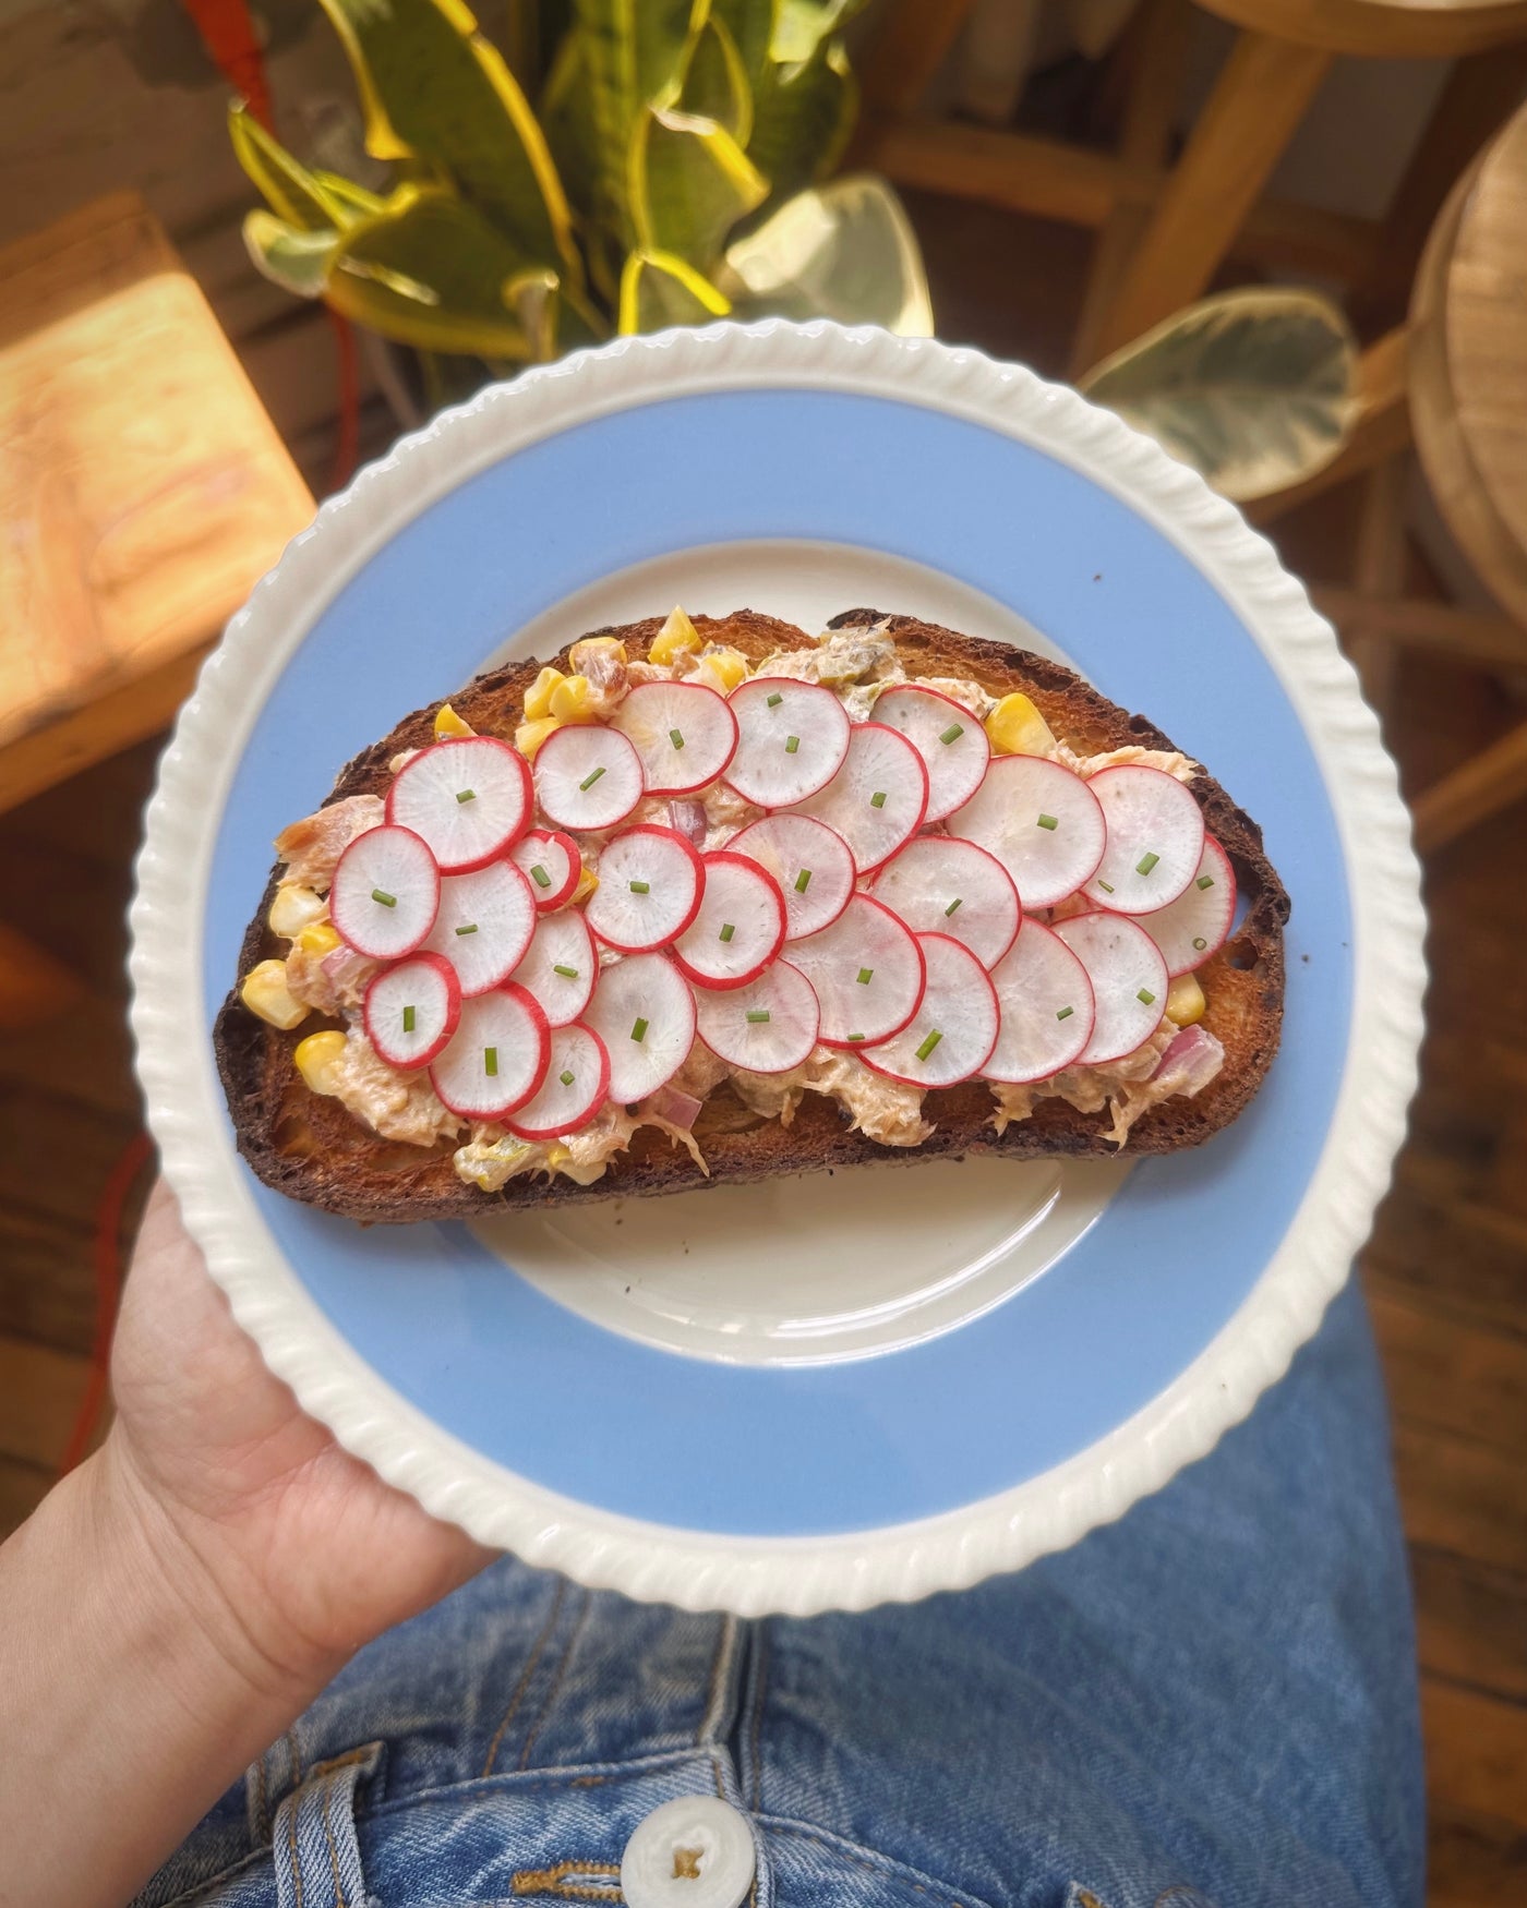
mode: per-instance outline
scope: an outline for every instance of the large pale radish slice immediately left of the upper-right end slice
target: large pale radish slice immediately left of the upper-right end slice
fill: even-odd
[[[1054,908],[1075,895],[1107,845],[1092,788],[1044,756],[996,756],[970,801],[949,817],[949,832],[996,855],[1025,908]]]

